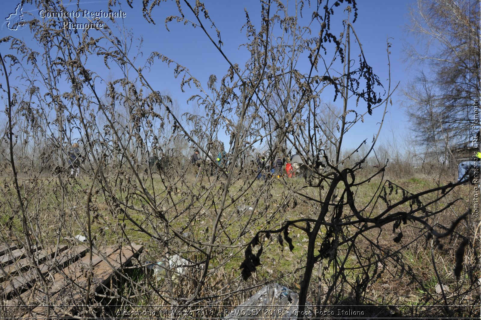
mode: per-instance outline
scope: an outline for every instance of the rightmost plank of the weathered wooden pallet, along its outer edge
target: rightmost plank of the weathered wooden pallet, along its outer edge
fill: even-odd
[[[142,245],[124,247],[122,251],[117,250],[106,258],[101,258],[101,261],[91,269],[92,280],[90,296],[93,297],[94,292],[100,291],[102,285],[107,284],[111,280],[114,272],[128,264],[134,256],[137,256],[142,251],[142,249]],[[82,302],[85,299],[87,286],[87,277],[82,275],[81,277],[76,278],[75,285],[71,284],[65,286],[56,294],[51,295],[52,305],[63,306],[51,310],[51,316],[54,315],[59,317],[71,315],[74,312],[75,306],[82,305],[82,303],[79,302]],[[36,319],[45,317],[46,307],[41,306],[35,308],[29,316],[35,316]]]

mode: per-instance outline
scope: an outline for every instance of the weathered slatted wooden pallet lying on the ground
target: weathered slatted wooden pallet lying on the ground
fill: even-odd
[[[38,247],[33,253],[15,244],[0,246],[0,297],[4,305],[0,319],[75,316],[86,306],[87,288],[87,306],[96,293],[114,295],[109,292],[112,277],[121,274],[142,249],[141,245],[110,246],[93,249],[90,255],[87,246]]]

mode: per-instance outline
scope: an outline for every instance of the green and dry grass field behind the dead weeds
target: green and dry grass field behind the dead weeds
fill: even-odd
[[[25,214],[29,233],[43,244],[72,241],[78,234],[88,236],[88,221],[92,242],[97,246],[144,244],[145,250],[129,274],[136,283],[120,281],[118,285],[119,296],[130,297],[117,300],[124,305],[122,310],[139,308],[126,301],[140,306],[169,307],[186,303],[192,297],[195,303],[190,301],[191,310],[202,309],[195,305],[228,309],[271,282],[299,291],[309,241],[302,229],[289,227],[292,251],[285,239],[279,241],[277,234],[267,238],[262,233],[261,265],[248,280],[242,280],[240,266],[245,249],[257,232],[278,229],[286,221],[316,220],[320,203],[311,198],[320,199],[327,185],[324,189],[307,187],[304,179],[274,179],[268,183],[237,180],[226,191],[226,180],[214,177],[203,177],[202,181],[195,180],[193,175],[183,181],[168,176],[141,178],[145,189],[128,174],[96,180],[93,185],[92,179],[85,175],[70,180],[59,176],[21,179],[25,212],[22,213],[14,190],[9,187],[12,186],[9,178],[4,177],[0,217],[3,241],[24,241]],[[363,215],[374,217],[410,193],[446,183],[427,176],[396,179],[391,183],[375,177],[353,189],[355,205]],[[469,209],[471,188],[455,187],[442,198],[441,191],[419,197],[423,203],[433,201],[427,206],[431,212],[454,201],[425,220],[439,232],[448,230]],[[342,191],[336,189],[336,201],[342,197]],[[378,195],[383,197],[380,199]],[[396,211],[407,212],[417,205],[414,202],[408,201]],[[353,219],[348,209],[342,214],[345,218],[341,222]],[[328,213],[326,221],[333,215]],[[436,307],[442,304],[459,306],[456,314],[462,315],[469,313],[469,306],[479,304],[479,283],[473,283],[473,279],[481,278],[479,260],[475,257],[475,251],[479,252],[479,218],[461,220],[456,232],[439,241],[429,237],[420,222],[408,221],[395,227],[395,232],[393,224],[367,229],[355,237],[362,226],[341,224],[333,239],[343,242],[354,237],[355,246],[344,241],[336,248],[336,254],[315,264],[307,301],[323,302],[329,292],[329,305],[361,304],[363,307],[358,308],[386,317],[396,314],[424,317],[431,312],[443,315],[447,311]],[[395,241],[400,230],[402,238]],[[323,226],[316,238],[318,248],[326,235],[327,226]],[[456,250],[465,238],[471,239],[472,245],[463,257],[464,269],[457,280]],[[254,247],[258,248],[259,245]],[[185,267],[182,274],[168,271],[162,277],[142,267],[149,262],[164,261],[166,253],[187,259],[191,267]],[[207,256],[210,259],[205,269]],[[445,286],[444,293],[439,293],[439,283]],[[102,312],[116,311],[118,308]]]

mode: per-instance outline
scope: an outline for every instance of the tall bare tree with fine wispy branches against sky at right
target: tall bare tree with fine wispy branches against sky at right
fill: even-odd
[[[423,145],[468,140],[468,106],[481,92],[480,18],[479,0],[419,0],[411,8],[409,31],[418,43],[406,53],[429,73],[421,73],[406,95],[412,100],[410,118]]]

